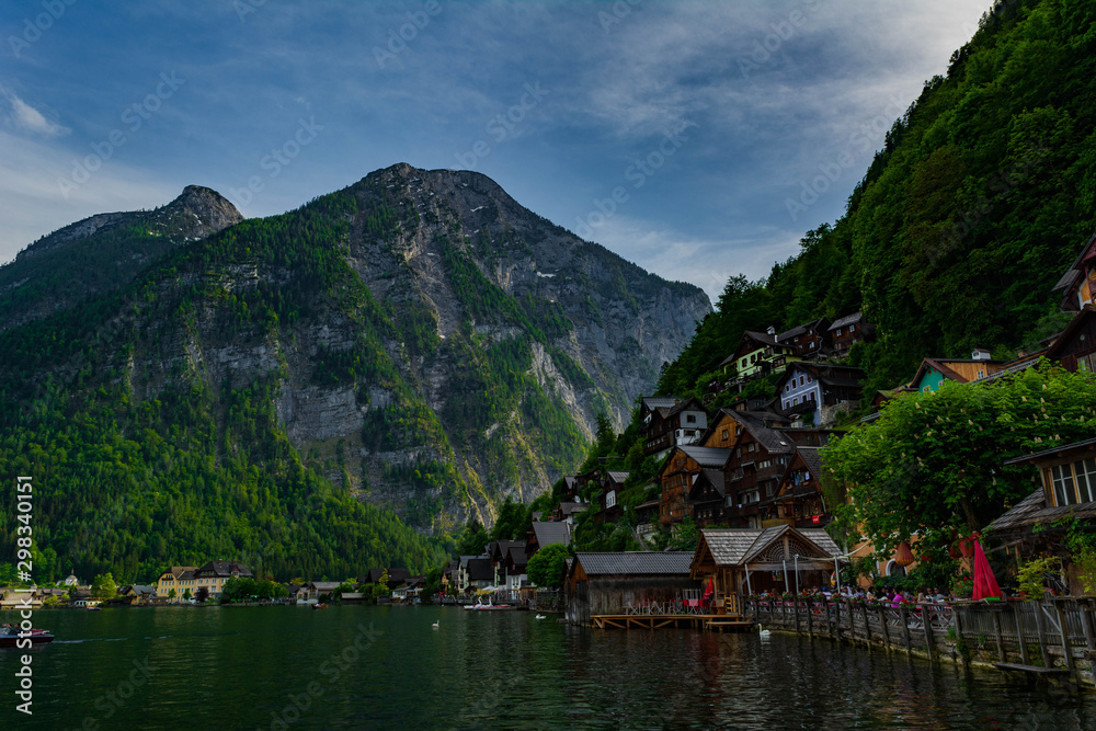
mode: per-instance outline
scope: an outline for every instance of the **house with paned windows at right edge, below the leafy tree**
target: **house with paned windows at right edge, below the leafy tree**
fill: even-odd
[[[1076,519],[1083,530],[1096,529],[1096,438],[1044,449],[1005,462],[1030,468],[1039,488],[987,527],[1013,556],[1026,560],[1050,552],[1068,564],[1070,586],[1082,594],[1071,551],[1062,546],[1064,522]]]

